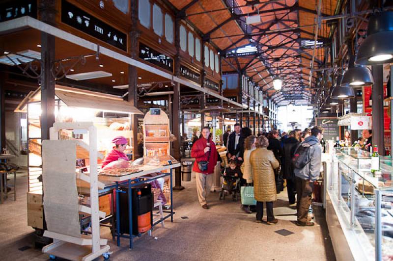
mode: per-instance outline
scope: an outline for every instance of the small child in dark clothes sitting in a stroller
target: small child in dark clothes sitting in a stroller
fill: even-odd
[[[229,160],[229,167],[224,169],[221,176],[223,177],[223,183],[221,184],[220,200],[225,199],[225,194],[228,193],[229,195],[232,194],[233,201],[236,201],[240,193],[240,180],[243,177],[237,162],[233,159]]]

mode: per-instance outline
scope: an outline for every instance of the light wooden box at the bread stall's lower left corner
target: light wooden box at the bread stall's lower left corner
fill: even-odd
[[[27,193],[28,197],[28,226],[44,229],[44,209],[42,194]]]

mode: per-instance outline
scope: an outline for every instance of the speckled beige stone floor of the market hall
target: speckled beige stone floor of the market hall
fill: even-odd
[[[25,173],[18,174],[17,185],[17,201],[8,199],[0,205],[2,260],[48,260],[35,248],[34,231],[27,226]],[[298,227],[294,224],[296,210],[288,206],[284,191],[274,209],[279,223],[269,226],[255,223],[255,215],[244,213],[240,203],[230,197],[219,201],[217,192],[209,195],[211,208],[202,209],[195,179],[183,185],[185,190],[174,192],[174,222],[166,221],[165,228],[156,226],[152,237],[137,238],[133,250],[128,249],[127,239],[121,239],[121,247],[117,247],[109,230],[102,229],[102,236],[110,239],[111,260],[335,260],[323,209],[314,207],[314,227]]]

